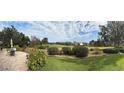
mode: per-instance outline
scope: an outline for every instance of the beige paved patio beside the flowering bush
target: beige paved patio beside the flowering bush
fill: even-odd
[[[27,70],[26,53],[16,51],[15,56],[9,56],[6,49],[0,51],[0,70],[25,71]]]

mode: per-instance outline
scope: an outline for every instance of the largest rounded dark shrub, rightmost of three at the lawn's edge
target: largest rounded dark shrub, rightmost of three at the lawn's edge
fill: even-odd
[[[88,56],[89,50],[87,47],[77,46],[74,48],[74,52],[76,53],[77,57],[86,57]]]

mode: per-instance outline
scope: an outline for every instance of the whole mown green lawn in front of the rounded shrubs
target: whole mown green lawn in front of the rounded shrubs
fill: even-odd
[[[49,56],[45,71],[114,71],[124,70],[124,54],[90,57],[69,58]]]

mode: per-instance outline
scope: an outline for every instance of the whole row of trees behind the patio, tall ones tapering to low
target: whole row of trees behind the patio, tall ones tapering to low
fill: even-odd
[[[18,45],[19,47],[35,46],[48,43],[48,38],[46,37],[42,40],[36,36],[31,36],[31,38],[29,38],[22,32],[18,32],[14,26],[4,27],[3,30],[0,31],[0,45],[3,47],[10,47],[10,39],[13,40],[13,45]]]

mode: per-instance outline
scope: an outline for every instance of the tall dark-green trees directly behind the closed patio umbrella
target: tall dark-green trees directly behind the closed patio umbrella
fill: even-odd
[[[20,47],[27,46],[27,44],[30,42],[29,37],[18,32],[14,26],[4,27],[2,32],[0,32],[0,41],[3,42],[4,47],[10,47],[11,38],[13,39],[13,44],[19,45]]]

